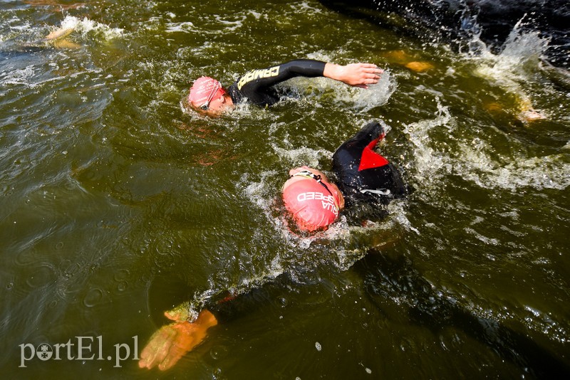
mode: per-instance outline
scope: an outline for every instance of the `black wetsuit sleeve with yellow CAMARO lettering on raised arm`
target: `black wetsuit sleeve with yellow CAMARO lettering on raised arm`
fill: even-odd
[[[251,70],[242,75],[228,88],[234,104],[249,100],[265,107],[279,101],[274,85],[295,77],[323,76],[326,62],[321,60],[298,59],[261,70]]]

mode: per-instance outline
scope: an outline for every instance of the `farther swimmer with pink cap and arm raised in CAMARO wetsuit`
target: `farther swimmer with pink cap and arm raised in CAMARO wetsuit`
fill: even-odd
[[[239,102],[249,102],[260,107],[274,105],[279,97],[274,85],[295,77],[325,77],[347,85],[368,88],[378,83],[383,70],[373,63],[336,65],[321,60],[298,59],[261,70],[251,70],[242,75],[226,90],[215,79],[198,78],[190,88],[188,104],[207,115],[218,115],[233,110]]]

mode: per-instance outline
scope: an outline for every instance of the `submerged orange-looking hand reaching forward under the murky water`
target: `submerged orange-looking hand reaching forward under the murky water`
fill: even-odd
[[[165,313],[171,320],[177,316]],[[140,353],[140,368],[165,371],[174,366],[187,352],[196,347],[206,337],[207,329],[214,327],[218,321],[208,310],[202,310],[194,322],[180,321],[160,327],[150,337],[146,347]]]

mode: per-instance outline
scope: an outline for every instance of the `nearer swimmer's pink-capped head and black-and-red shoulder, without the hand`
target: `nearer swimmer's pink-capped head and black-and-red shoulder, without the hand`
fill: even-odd
[[[333,171],[338,188],[315,169],[300,167],[289,171],[289,180],[282,190],[283,200],[300,230],[311,232],[328,228],[344,204],[368,206],[368,210],[359,210],[357,214],[384,213],[378,206],[407,194],[398,170],[373,150],[384,136],[382,125],[370,122],[336,149]],[[336,194],[338,189],[340,196]]]

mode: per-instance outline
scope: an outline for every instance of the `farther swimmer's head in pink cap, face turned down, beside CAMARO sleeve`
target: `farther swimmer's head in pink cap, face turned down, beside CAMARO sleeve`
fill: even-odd
[[[233,109],[232,98],[214,78],[198,78],[190,88],[188,103],[196,110],[207,114],[219,114],[227,109]]]

